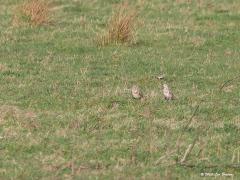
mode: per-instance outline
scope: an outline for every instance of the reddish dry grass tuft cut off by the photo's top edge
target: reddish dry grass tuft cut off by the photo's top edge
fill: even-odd
[[[28,23],[31,26],[50,23],[50,5],[44,0],[28,0],[19,5],[15,11],[13,24]]]

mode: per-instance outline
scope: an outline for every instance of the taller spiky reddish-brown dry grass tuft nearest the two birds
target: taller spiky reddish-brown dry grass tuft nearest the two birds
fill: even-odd
[[[98,45],[133,42],[136,17],[134,10],[130,10],[126,6],[121,6],[119,11],[110,18],[105,33],[98,35]]]

